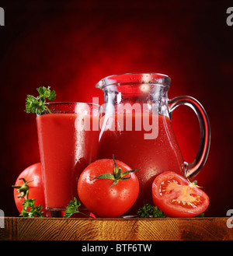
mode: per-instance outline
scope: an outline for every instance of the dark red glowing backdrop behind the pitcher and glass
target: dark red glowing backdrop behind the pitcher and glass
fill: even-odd
[[[179,3],[179,4],[178,4]],[[40,161],[26,94],[52,86],[57,101],[92,101],[96,82],[123,72],[161,72],[172,78],[169,98],[196,97],[211,125],[210,155],[196,177],[210,196],[207,216],[233,209],[231,1],[26,1],[1,2],[0,209],[18,216],[12,184]],[[195,114],[180,107],[172,124],[186,161],[196,155]]]

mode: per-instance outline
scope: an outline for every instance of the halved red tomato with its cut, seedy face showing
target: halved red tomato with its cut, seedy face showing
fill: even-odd
[[[200,188],[172,171],[155,177],[152,198],[166,216],[176,218],[197,216],[209,205],[208,196]]]

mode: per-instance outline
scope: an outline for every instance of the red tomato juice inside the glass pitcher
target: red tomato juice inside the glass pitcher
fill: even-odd
[[[126,120],[129,115],[133,124],[131,131],[126,131],[126,129],[116,131],[117,126],[119,127],[116,120],[122,118]],[[114,154],[115,159],[126,163],[133,170],[140,169],[135,173],[140,182],[139,196],[134,206],[127,212],[128,215],[135,215],[145,203],[154,205],[151,185],[158,174],[167,170],[183,174],[183,156],[169,117],[157,115],[157,138],[144,139],[144,134],[148,133],[144,130],[144,126],[141,125],[141,131],[135,129],[138,121],[143,124],[143,116],[144,114],[122,114],[120,117],[118,114],[115,117],[115,131],[111,131],[112,128],[104,130],[99,141],[98,159],[112,158]],[[148,118],[152,117],[148,114]]]

